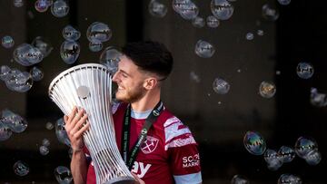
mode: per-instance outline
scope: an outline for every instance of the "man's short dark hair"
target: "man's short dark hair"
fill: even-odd
[[[172,72],[173,56],[164,44],[154,41],[129,43],[124,45],[122,53],[141,70],[155,73],[163,79]]]

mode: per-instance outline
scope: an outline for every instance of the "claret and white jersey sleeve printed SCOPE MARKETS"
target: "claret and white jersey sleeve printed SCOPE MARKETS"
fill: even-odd
[[[164,123],[165,150],[176,184],[202,182],[200,154],[192,132],[183,122],[173,117]]]

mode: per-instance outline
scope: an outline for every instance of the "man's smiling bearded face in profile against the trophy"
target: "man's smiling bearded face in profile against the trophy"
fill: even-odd
[[[114,74],[113,81],[117,83],[118,89],[115,97],[123,102],[137,102],[144,97],[144,73],[125,55],[118,63],[118,71]]]

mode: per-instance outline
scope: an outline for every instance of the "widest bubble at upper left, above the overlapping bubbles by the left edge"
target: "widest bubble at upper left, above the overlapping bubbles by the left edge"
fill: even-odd
[[[43,53],[31,44],[20,44],[14,51],[15,61],[24,66],[40,63],[43,58]]]

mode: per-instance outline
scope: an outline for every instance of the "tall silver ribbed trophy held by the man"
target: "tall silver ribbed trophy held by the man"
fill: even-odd
[[[115,141],[112,74],[106,67],[87,63],[60,73],[49,86],[49,96],[65,115],[74,106],[86,111],[90,128],[83,139],[94,163],[96,183],[134,183]]]

